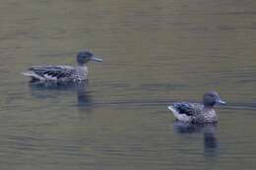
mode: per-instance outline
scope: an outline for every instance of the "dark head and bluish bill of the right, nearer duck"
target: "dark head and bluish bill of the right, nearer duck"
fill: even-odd
[[[203,96],[203,103],[207,107],[214,107],[216,104],[225,104],[224,100],[216,91],[208,91]]]

